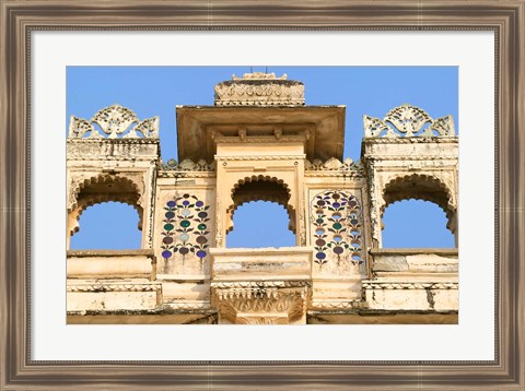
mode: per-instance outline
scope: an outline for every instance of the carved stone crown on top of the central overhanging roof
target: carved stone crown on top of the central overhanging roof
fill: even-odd
[[[304,106],[304,84],[275,73],[245,73],[215,85],[215,106]]]

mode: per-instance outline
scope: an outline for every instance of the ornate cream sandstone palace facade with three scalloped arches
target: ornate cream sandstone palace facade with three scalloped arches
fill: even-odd
[[[346,108],[305,105],[303,83],[248,73],[214,93],[213,106],[177,106],[166,163],[158,118],[118,105],[71,118],[68,247],[105,201],[137,210],[142,244],[68,249],[69,323],[457,323],[457,248],[382,247],[385,208],[405,199],[443,209],[457,244],[451,116],[364,116],[352,162]],[[236,209],[257,200],[287,210],[294,247],[226,247]]]

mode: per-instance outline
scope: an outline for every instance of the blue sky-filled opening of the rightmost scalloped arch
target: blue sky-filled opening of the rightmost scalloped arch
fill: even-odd
[[[423,200],[394,202],[383,214],[384,248],[453,248],[445,212]]]

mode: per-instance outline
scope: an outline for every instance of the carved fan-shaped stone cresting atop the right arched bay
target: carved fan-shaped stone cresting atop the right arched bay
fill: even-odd
[[[404,104],[393,108],[381,120],[363,116],[365,138],[435,138],[454,137],[454,119],[430,117],[419,107]]]

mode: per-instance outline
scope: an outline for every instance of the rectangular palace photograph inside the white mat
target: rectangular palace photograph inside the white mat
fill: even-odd
[[[457,323],[457,67],[68,67],[67,117],[68,323]]]

